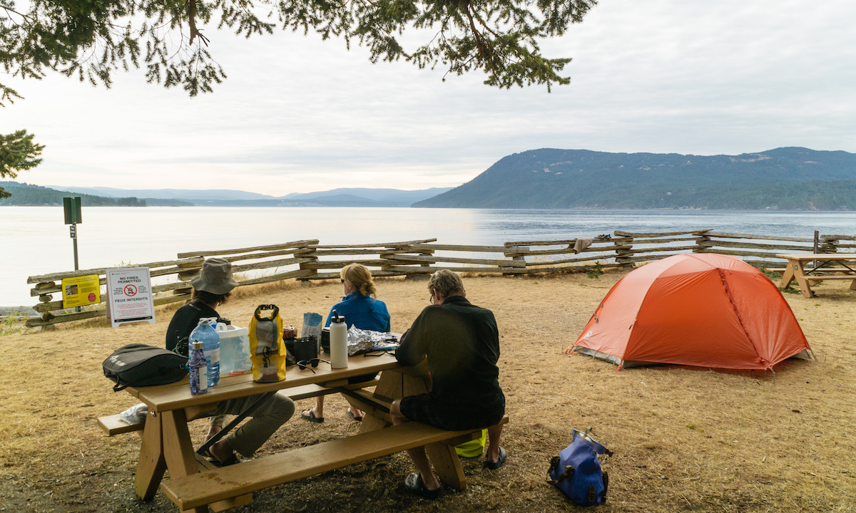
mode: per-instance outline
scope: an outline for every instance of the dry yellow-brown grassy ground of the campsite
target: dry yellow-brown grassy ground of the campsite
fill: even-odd
[[[444,488],[431,502],[404,492],[413,467],[397,454],[257,492],[235,511],[577,510],[544,476],[571,430],[591,427],[615,452],[603,464],[603,512],[856,512],[856,292],[822,284],[817,298],[786,294],[818,361],[781,363],[775,378],[680,366],[616,371],[563,354],[620,277],[465,278],[468,298],[493,310],[500,327],[510,417],[502,469],[465,460],[467,489]],[[425,281],[379,280],[377,288],[394,331],[428,304]],[[274,303],[299,326],[304,312],[326,315],[341,296],[337,281],[291,282],[241,292],[219,311],[247,326],[258,304]],[[96,426],[135,402],[111,391],[101,362],[131,342],[162,345],[175,308],[158,309],[154,325],[89,321],[0,337],[0,511],[177,510],[161,492],[148,503],[134,497],[139,438],[109,438]],[[329,396],[324,424],[294,418],[258,456],[356,433],[345,405]],[[193,422],[196,443],[205,428]]]

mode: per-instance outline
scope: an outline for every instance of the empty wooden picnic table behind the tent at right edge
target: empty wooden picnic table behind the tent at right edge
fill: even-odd
[[[810,253],[787,254],[776,257],[788,260],[782,272],[780,288],[787,288],[792,281],[800,286],[806,298],[811,298],[811,286],[824,280],[851,280],[850,290],[856,290],[856,253]],[[808,266],[809,262],[815,262]]]

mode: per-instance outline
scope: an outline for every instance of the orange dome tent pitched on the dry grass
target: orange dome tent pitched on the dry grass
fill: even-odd
[[[695,253],[663,258],[619,280],[572,349],[619,369],[644,363],[772,369],[811,351],[764,273],[734,257]]]

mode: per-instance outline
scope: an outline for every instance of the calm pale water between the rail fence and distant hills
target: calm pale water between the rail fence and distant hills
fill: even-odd
[[[78,225],[78,256],[85,269],[300,239],[324,245],[433,238],[438,244],[502,245],[615,230],[704,228],[807,238],[814,230],[854,234],[856,212],[90,207]],[[0,207],[0,264],[0,306],[38,303],[27,276],[74,269],[62,207]]]

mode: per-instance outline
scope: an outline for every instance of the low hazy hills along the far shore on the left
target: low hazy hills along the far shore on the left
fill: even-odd
[[[451,187],[419,191],[398,189],[339,188],[324,192],[293,192],[273,197],[257,192],[192,189],[114,189],[110,187],[32,186],[14,181],[0,181],[10,198],[0,199],[0,206],[62,205],[62,198],[80,196],[80,204],[91,206],[134,207],[409,207]]]

